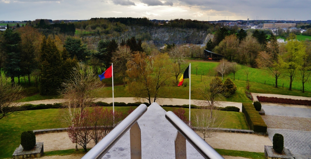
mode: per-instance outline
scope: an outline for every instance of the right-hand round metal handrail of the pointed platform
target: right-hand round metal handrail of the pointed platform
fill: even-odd
[[[165,118],[177,129],[177,131],[188,140],[197,151],[208,159],[223,159],[207,142],[205,142],[196,132],[194,132],[187,124],[185,124],[172,111],[165,114]]]

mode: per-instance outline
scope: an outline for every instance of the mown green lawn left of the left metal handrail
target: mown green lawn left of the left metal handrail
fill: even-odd
[[[112,109],[112,107],[107,107]],[[130,107],[115,107],[124,113]],[[135,107],[133,107],[135,108]],[[20,111],[0,120],[0,158],[12,157],[20,145],[21,133],[28,130],[67,127],[58,118],[59,109]]]

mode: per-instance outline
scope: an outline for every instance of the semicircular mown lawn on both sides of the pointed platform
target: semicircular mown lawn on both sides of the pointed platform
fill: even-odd
[[[107,107],[109,110],[112,107]],[[115,110],[127,113],[130,107],[115,107]],[[136,108],[136,107],[133,107]],[[90,108],[92,109],[92,108]],[[166,111],[172,108],[164,107]],[[189,116],[185,109],[185,116]],[[203,109],[192,109],[193,114]],[[43,109],[21,111],[0,120],[0,158],[12,157],[12,154],[20,144],[20,135],[23,131],[36,129],[51,129],[67,127],[58,118],[59,109]],[[219,120],[223,120],[220,127],[232,129],[248,129],[245,116],[240,112],[218,111]],[[192,117],[192,119],[194,119]]]

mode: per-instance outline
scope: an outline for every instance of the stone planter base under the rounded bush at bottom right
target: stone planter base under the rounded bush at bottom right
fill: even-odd
[[[284,148],[282,153],[277,153],[273,150],[273,146],[265,145],[265,156],[267,159],[294,159],[288,148]]]

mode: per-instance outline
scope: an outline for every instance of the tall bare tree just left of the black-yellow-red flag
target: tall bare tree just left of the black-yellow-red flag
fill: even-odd
[[[172,75],[176,78],[176,85],[179,83],[179,74],[184,70],[184,67],[182,66],[182,64],[185,63],[183,60],[185,56],[184,54],[185,53],[179,47],[174,47],[169,52],[169,57],[172,61]]]

